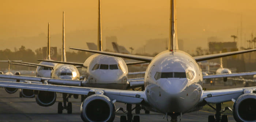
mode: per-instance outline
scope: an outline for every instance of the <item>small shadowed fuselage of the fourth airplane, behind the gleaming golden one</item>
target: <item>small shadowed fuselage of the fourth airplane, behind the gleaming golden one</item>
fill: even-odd
[[[39,64],[44,64],[44,65],[49,65],[49,66],[56,65],[56,63],[52,63],[52,62],[40,62]],[[37,77],[50,78],[51,72],[52,72],[52,68],[38,66],[35,74]]]

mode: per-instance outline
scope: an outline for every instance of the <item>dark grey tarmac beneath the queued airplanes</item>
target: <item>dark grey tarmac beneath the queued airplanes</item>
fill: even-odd
[[[69,99],[69,102],[72,102],[72,114],[67,114],[66,110],[63,110],[63,114],[57,114],[57,105],[58,102],[62,101],[62,95],[58,94],[57,96],[54,105],[42,107],[37,105],[35,98],[19,98],[19,90],[14,94],[8,94],[4,88],[0,88],[0,122],[82,122],[80,118],[80,105],[82,103],[80,97],[79,99]],[[115,105],[116,109],[118,107],[126,109],[124,103],[115,103]],[[135,111],[132,111],[132,113],[133,115],[139,115],[141,122],[166,122],[166,118],[163,119],[163,114],[154,112],[144,114],[144,110],[140,111],[141,114],[135,114]],[[114,122],[119,122],[121,115],[125,114],[118,112]],[[208,115],[214,115],[214,113],[197,111],[184,114],[181,122],[207,122]],[[235,122],[233,116],[229,116],[229,122]]]

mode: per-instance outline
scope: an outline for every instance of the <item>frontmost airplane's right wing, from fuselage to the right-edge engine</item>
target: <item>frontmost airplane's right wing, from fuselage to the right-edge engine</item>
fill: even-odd
[[[207,103],[222,103],[236,100],[242,94],[253,93],[256,91],[256,87],[243,87],[243,88],[231,88],[224,90],[209,90],[203,91],[201,96],[201,101],[206,101]]]

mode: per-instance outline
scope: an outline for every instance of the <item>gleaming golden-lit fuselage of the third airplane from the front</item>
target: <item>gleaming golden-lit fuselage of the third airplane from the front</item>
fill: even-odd
[[[57,64],[50,73],[51,78],[78,80],[80,78],[79,71],[74,65]]]

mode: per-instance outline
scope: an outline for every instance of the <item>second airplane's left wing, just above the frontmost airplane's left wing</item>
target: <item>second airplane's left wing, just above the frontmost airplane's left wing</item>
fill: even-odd
[[[55,79],[55,78],[43,78],[35,76],[23,76],[23,75],[5,75],[0,74],[0,79],[8,79],[4,81],[12,80],[25,80],[26,82],[41,82],[46,84],[60,84],[60,85],[71,85],[71,86],[81,86],[82,80],[67,80],[67,79]],[[30,82],[29,82],[30,83]]]

